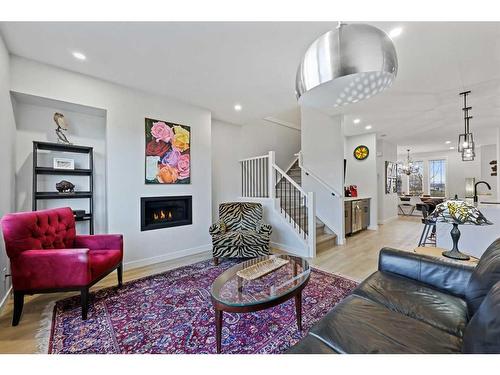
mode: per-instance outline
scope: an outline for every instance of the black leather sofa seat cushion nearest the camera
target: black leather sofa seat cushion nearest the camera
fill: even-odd
[[[339,353],[459,353],[462,339],[351,295],[309,333]]]

